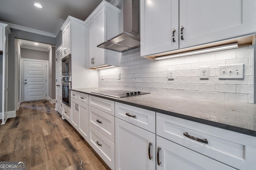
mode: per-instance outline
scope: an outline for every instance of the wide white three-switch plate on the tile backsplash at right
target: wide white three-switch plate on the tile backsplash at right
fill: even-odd
[[[244,78],[244,64],[219,65],[219,79]]]

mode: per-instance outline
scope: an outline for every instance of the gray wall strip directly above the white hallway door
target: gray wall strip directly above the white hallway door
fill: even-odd
[[[26,59],[49,61],[49,52],[48,51],[38,51],[38,50],[21,48],[20,56],[21,56],[21,58],[26,58]]]

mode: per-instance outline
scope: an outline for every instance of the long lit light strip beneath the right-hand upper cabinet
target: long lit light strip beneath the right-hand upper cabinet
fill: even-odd
[[[200,49],[200,50],[196,50],[196,51],[190,51],[190,52],[186,52],[186,53],[178,53],[178,54],[174,54],[174,55],[167,55],[167,56],[162,56],[162,57],[156,57],[155,60],[164,60],[164,59],[170,59],[170,58],[174,58],[174,57],[182,57],[182,56],[201,54],[201,53],[212,52],[212,51],[234,49],[234,48],[237,48],[237,47],[238,47],[238,44],[237,43],[233,43],[233,44],[227,44],[227,45],[222,45],[222,46],[217,46],[217,47]]]

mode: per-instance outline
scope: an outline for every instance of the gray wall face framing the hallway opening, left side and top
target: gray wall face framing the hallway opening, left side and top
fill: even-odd
[[[14,52],[14,38],[26,39],[29,41],[37,41],[40,43],[46,43],[55,45],[56,38],[48,37],[45,35],[39,35],[36,33],[30,33],[21,31],[18,29],[12,29],[8,37],[8,111],[15,109],[15,52]]]

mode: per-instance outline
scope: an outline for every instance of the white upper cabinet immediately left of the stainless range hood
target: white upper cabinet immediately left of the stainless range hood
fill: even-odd
[[[118,52],[97,45],[120,33],[120,9],[102,1],[85,22],[86,68],[119,66]]]

